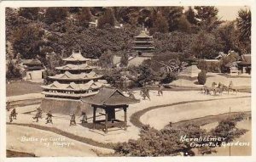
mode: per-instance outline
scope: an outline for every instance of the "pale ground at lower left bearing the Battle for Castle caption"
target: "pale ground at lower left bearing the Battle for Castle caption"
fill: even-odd
[[[97,156],[95,149],[105,154],[112,152],[110,149],[93,147],[50,131],[31,127],[7,125],[7,131],[12,134],[7,137],[7,149],[14,149],[17,153],[33,153],[39,157],[78,157]]]

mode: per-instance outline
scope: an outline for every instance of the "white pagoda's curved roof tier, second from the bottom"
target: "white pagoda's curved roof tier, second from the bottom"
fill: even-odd
[[[101,78],[102,75],[97,75],[96,72],[90,71],[90,73],[80,73],[80,74],[71,74],[68,71],[65,71],[63,74],[49,76],[50,79],[55,80],[66,80],[66,81],[84,81],[91,80],[96,78]]]

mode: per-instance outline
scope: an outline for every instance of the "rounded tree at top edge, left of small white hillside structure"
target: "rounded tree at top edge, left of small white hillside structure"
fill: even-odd
[[[77,16],[77,19],[79,21],[79,25],[88,27],[89,22],[91,21],[90,8],[82,8]]]

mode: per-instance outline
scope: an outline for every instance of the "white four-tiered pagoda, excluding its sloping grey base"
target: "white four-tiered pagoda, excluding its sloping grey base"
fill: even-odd
[[[79,53],[72,53],[66,59],[66,65],[57,67],[61,74],[49,76],[51,82],[44,89],[45,98],[79,99],[98,92],[99,88],[107,85],[107,81],[100,80],[102,75],[94,71],[96,66],[90,65],[94,59],[87,59]]]

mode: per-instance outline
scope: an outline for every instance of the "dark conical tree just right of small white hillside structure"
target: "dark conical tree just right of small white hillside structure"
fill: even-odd
[[[104,25],[114,25],[114,15],[111,8],[107,8],[104,14],[98,20],[98,28],[102,29]]]

